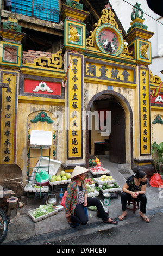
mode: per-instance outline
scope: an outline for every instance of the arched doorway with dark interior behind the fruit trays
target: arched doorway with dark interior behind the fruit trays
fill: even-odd
[[[133,167],[133,112],[129,102],[120,93],[105,90],[92,97],[86,112],[107,108],[111,111],[111,134],[108,161],[130,163]],[[89,118],[86,120],[86,165],[88,165],[92,132],[89,130]],[[94,133],[95,135],[95,133]],[[94,136],[93,135],[93,136]],[[97,138],[93,138],[97,141]],[[87,166],[88,167],[88,166]]]

